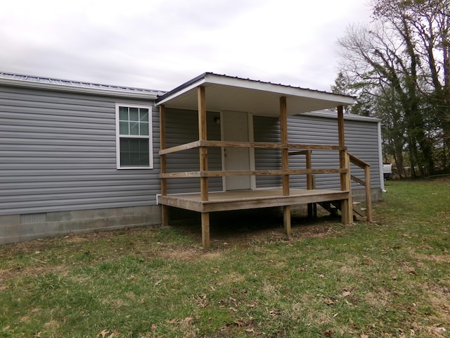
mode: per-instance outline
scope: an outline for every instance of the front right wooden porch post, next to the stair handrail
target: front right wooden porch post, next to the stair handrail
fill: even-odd
[[[350,183],[350,159],[345,150],[344,108],[342,106],[338,106],[338,134],[340,169],[347,169],[347,173],[340,174],[340,189],[349,192],[349,198],[341,201],[342,224],[350,224],[353,222],[352,185]]]

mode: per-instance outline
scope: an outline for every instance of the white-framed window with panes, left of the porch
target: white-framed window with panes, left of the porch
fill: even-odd
[[[116,104],[117,169],[153,168],[151,107]]]

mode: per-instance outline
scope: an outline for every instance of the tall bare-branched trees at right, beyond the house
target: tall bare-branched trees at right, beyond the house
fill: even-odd
[[[338,41],[341,77],[361,106],[352,112],[383,119],[385,151],[400,170],[406,151],[412,175],[435,170],[439,146],[448,166],[449,3],[375,0],[373,24],[352,25]]]

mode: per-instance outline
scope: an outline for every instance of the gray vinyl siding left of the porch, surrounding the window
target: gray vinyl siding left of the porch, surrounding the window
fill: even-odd
[[[115,104],[152,100],[0,86],[0,215],[155,205],[153,169],[117,170]]]

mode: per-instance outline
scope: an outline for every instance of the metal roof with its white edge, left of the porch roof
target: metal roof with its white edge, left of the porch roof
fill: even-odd
[[[20,75],[5,72],[0,72],[0,84],[42,89],[56,89],[66,92],[84,92],[91,94],[127,96],[145,99],[156,99],[159,95],[165,94],[165,92],[160,90],[115,86],[110,84],[98,84],[73,80],[61,80],[51,77]]]

